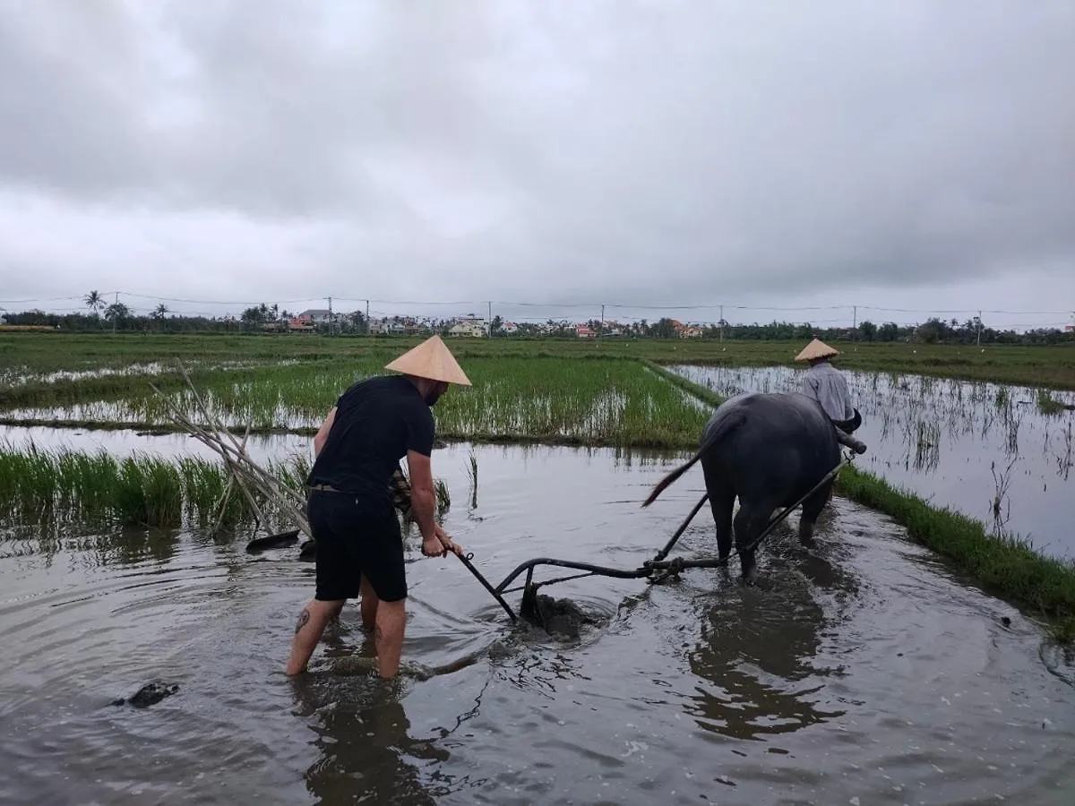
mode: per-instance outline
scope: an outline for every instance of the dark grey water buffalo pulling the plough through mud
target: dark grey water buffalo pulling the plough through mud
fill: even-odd
[[[664,476],[643,506],[649,506],[669,485],[701,461],[720,559],[727,559],[732,550],[732,505],[739,496],[735,546],[742,578],[750,582],[757,574],[751,544],[775,510],[796,503],[836,466],[840,444],[825,411],[804,394],[740,394],[717,407],[702,431],[698,451]],[[814,545],[814,523],[834,481],[820,487],[802,504],[799,542],[804,546]]]

